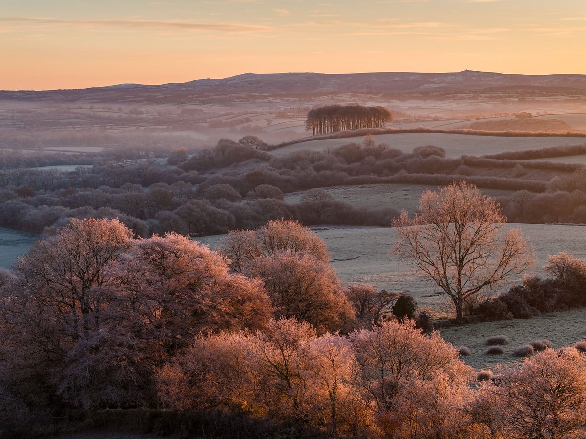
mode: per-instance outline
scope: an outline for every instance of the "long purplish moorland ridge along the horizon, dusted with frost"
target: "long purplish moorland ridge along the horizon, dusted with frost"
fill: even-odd
[[[192,95],[319,94],[327,92],[494,92],[516,89],[586,92],[586,75],[520,75],[464,70],[458,73],[244,73],[183,84],[120,84],[79,90],[0,91],[0,99],[75,102],[167,102]]]

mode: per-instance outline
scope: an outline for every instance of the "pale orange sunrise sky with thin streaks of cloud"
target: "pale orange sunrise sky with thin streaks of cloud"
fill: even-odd
[[[586,74],[586,0],[0,0],[0,90],[466,69]]]

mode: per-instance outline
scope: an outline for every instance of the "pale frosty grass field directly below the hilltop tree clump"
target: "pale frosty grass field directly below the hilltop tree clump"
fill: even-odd
[[[387,142],[390,148],[397,148],[404,152],[411,152],[417,146],[439,146],[446,150],[447,157],[481,156],[506,151],[541,149],[559,145],[582,145],[584,143],[583,138],[475,136],[444,133],[379,134],[374,136],[374,139],[376,143]],[[272,150],[271,153],[285,155],[303,149],[324,150],[326,148],[336,148],[336,146],[350,142],[362,143],[362,136],[344,139],[309,140],[308,142],[295,143],[295,145]]]

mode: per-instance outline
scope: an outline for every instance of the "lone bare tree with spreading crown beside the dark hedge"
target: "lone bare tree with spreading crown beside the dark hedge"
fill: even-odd
[[[393,252],[448,294],[461,323],[468,297],[533,263],[532,248],[519,230],[502,233],[505,222],[496,201],[465,181],[452,183],[439,193],[421,194],[413,218],[403,211],[393,221]]]

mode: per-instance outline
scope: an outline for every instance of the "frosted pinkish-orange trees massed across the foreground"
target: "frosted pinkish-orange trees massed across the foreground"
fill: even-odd
[[[299,222],[230,232],[219,252],[132,236],[117,219],[73,219],[2,272],[6,435],[61,419],[213,437],[584,433],[585,342],[534,341],[522,365],[475,376],[465,347],[410,319],[409,296],[342,287]],[[580,294],[584,261],[550,262],[546,291]]]

